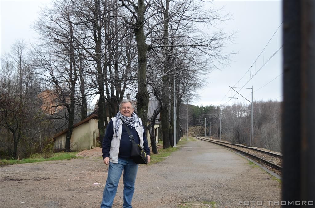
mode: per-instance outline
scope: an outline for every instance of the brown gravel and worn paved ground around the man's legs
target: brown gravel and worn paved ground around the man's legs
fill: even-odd
[[[0,207],[99,207],[108,168],[101,155],[90,154],[0,167]],[[113,207],[122,207],[122,198],[121,180]],[[163,162],[139,166],[133,207],[239,207],[240,200],[267,207],[268,200],[279,199],[280,183],[268,173],[226,149],[195,141]]]

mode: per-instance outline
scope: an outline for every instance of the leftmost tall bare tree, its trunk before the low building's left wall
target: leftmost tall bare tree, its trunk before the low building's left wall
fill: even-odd
[[[41,13],[35,29],[42,37],[42,50],[37,52],[37,67],[44,69],[44,79],[54,87],[58,105],[67,109],[68,121],[65,150],[70,151],[70,140],[73,130],[76,103],[76,85],[79,63],[76,53],[76,31],[70,0],[55,1],[51,8]]]

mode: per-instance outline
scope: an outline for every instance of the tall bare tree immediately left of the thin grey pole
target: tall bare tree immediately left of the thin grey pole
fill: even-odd
[[[152,51],[150,54],[159,54],[155,57],[161,57],[160,62],[163,64],[161,115],[163,147],[168,148],[173,145],[172,134],[169,133],[171,129],[169,122],[173,122],[174,99],[177,99],[177,105],[180,107],[182,97],[191,95],[194,89],[201,86],[202,82],[202,80],[196,82],[198,79],[193,80],[192,83],[195,85],[192,84],[189,90],[186,86],[182,95],[173,98],[169,96],[174,88],[173,79],[176,79],[178,83],[180,80],[187,82],[189,77],[200,78],[201,74],[211,72],[216,64],[227,63],[230,54],[223,53],[222,48],[230,42],[231,35],[225,34],[222,30],[206,35],[207,33],[200,30],[198,26],[201,24],[215,26],[217,22],[227,20],[228,15],[221,15],[219,10],[215,9],[205,10],[197,1],[171,2],[166,0],[165,2],[156,1],[152,5],[158,12],[150,13],[154,18],[151,23],[146,24],[146,36],[151,41],[148,51]],[[207,62],[207,60],[210,61]],[[188,62],[194,63],[194,65],[190,65]],[[189,73],[179,70],[189,71]],[[185,75],[188,76],[185,77]],[[182,87],[178,86],[176,87],[177,93]],[[179,125],[176,129],[179,133]],[[176,140],[178,141],[178,139]]]

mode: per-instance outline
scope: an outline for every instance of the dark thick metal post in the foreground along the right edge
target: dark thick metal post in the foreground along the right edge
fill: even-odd
[[[283,1],[282,200],[315,203],[315,1]],[[295,205],[289,205],[295,206]]]

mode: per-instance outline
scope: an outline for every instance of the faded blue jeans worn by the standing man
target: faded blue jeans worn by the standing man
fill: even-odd
[[[118,163],[109,162],[107,181],[103,192],[101,208],[112,207],[120,176],[123,172],[123,207],[130,208],[135,191],[138,164],[132,159],[119,157]]]

